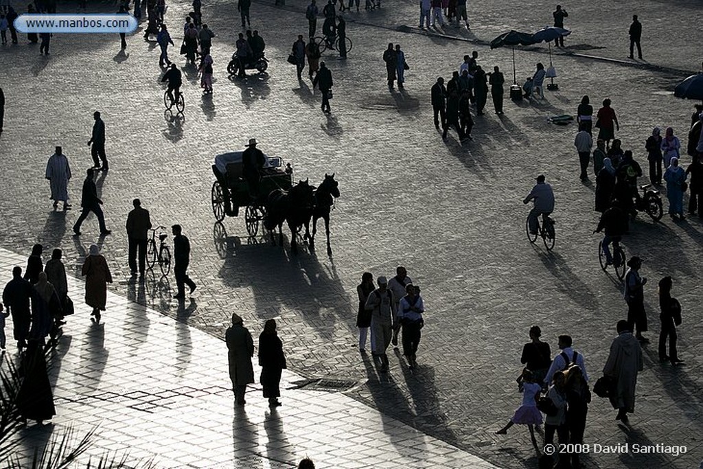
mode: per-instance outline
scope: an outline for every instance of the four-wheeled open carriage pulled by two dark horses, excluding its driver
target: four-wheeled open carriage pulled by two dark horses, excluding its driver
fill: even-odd
[[[249,191],[249,184],[243,177],[242,153],[235,151],[215,157],[212,172],[212,213],[217,221],[224,220],[225,215],[237,217],[240,207],[246,207],[244,221],[249,236],[256,236],[259,224],[266,216],[265,197],[254,197]],[[264,155],[266,156],[266,155]],[[266,156],[266,164],[261,170],[259,194],[267,195],[278,188],[288,191],[292,186],[292,168],[290,164],[281,169],[283,161]]]

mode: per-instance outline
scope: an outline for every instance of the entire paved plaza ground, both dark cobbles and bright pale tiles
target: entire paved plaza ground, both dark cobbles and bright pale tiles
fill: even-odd
[[[176,44],[187,4],[169,2],[167,20]],[[669,2],[643,1],[638,12],[605,0],[562,5],[569,11],[565,26],[574,34],[567,37],[565,51],[553,49],[560,89],[546,91],[542,103],[506,100],[501,117],[490,112],[489,100],[486,115],[474,117],[473,141],[464,143],[451,132],[442,141],[434,130],[430,86],[438,75],[448,79],[472,50],[479,52],[484,69],[499,65],[506,84],[512,82],[510,49],[491,50],[485,44],[505,30],[531,32],[551,24],[553,2],[538,1],[521,10],[508,1],[493,1],[482,17],[479,6],[470,5],[472,30],[446,27],[441,34],[418,29],[415,1],[384,1],[373,12],[363,11],[362,2],[360,13],[345,14],[354,41],[349,58],[340,60],[330,51],[323,56],[335,80],[328,116],[321,113],[321,96],[309,80],[297,82],[295,68],[285,62],[297,34],[307,31],[302,0],[286,0],[278,8],[273,2],[253,4],[252,28],[266,40],[271,65],[268,75],[250,75],[246,81],[230,80],[225,72],[239,32],[236,5],[203,5],[204,22],[217,34],[214,94],[202,98],[199,77],[186,69],[184,122],[164,118],[158,47],[141,34],[128,37],[126,53],[119,53],[119,37],[103,35],[56,34],[50,58],[39,56],[24,37],[18,46],[0,49],[0,86],[7,101],[0,136],[0,172],[6,176],[0,248],[14,253],[3,252],[0,280],[9,280],[13,263],[23,266],[37,242],[44,252],[63,248],[67,269],[75,276],[89,245],[98,243],[115,278],[110,286],[114,306],[108,307],[101,328],[91,328],[86,310],[77,311],[65,326],[57,352],[60,368],[52,371],[58,378],[56,427],[74,421],[84,430],[100,414],[106,443],[103,448],[98,439],[96,451],[123,449],[129,441],[135,456],[155,456],[164,467],[211,466],[193,454],[169,459],[167,451],[155,448],[147,434],[161,425],[174,442],[186,437],[174,429],[200,435],[195,444],[206,451],[198,455],[226,467],[247,457],[251,465],[236,467],[290,467],[276,464],[310,454],[323,468],[470,468],[480,467],[481,460],[501,468],[536,468],[527,429],[517,426],[507,436],[494,435],[522,399],[515,377],[529,327],[541,326],[553,351],[557,335],[572,335],[593,383],[605,364],[615,323],[626,314],[619,283],[600,270],[600,237],[591,234],[598,221],[593,169],[590,181],[581,184],[574,125],[555,126],[547,119],[574,115],[583,94],[591,96],[596,109],[610,97],[621,124],[617,137],[646,166],[644,141],[652,127],[673,127],[685,146],[693,103],[673,98],[671,91],[699,69],[703,39],[694,15],[697,1],[677,1],[675,8]],[[96,8],[112,11],[112,4]],[[643,21],[647,63],[626,59],[632,13]],[[671,31],[667,22],[679,25],[678,30]],[[411,66],[403,93],[390,93],[385,84],[381,56],[391,41],[401,44]],[[172,48],[174,56],[177,49]],[[535,63],[548,63],[546,52],[544,44],[516,49],[520,82],[532,75]],[[98,191],[113,233],[98,238],[97,222],[89,217],[84,234],[74,238],[80,184],[84,168],[91,165],[85,143],[94,110],[101,111],[107,129],[110,171],[99,176]],[[253,137],[265,153],[292,164],[296,181],[309,178],[319,184],[325,173],[335,173],[341,197],[332,212],[332,256],[325,253],[323,231],[318,231],[317,252],[302,246],[293,256],[288,241],[285,248],[274,248],[267,238],[247,238],[242,217],[215,223],[210,207],[214,155],[241,150]],[[56,145],[63,146],[72,165],[70,212],[51,210],[43,177]],[[688,165],[690,157],[683,162]],[[529,245],[524,235],[528,207],[522,198],[537,174],[546,174],[556,194],[552,252]],[[179,223],[190,238],[191,278],[198,283],[192,305],[172,300],[173,277],[148,276],[143,288],[130,283],[124,222],[135,197],[150,210],[153,223]],[[697,468],[703,460],[703,226],[699,217],[674,223],[665,216],[656,224],[645,217],[638,216],[623,242],[628,257],[643,257],[642,273],[650,278],[645,306],[652,342],[643,348],[636,413],[631,428],[618,426],[610,404],[594,396],[585,440],[683,445],[687,452],[678,457],[590,454],[583,458],[587,468],[683,469]],[[355,349],[356,285],[363,271],[391,276],[398,264],[422,288],[427,308],[419,366],[411,371],[400,355],[391,354],[389,373],[380,375]],[[678,368],[660,364],[657,356],[656,282],[664,275],[673,276],[673,295],[683,305],[678,334],[685,365]],[[74,285],[71,294],[79,300],[82,289],[79,282]],[[285,390],[280,415],[267,415],[264,399],[258,398],[251,399],[251,410],[247,404],[246,416],[238,416],[228,400],[226,354],[219,342],[233,312],[243,316],[252,335],[258,335],[266,319],[276,318],[290,368],[285,387],[319,379],[349,387],[342,392],[328,392],[333,386],[324,392]],[[163,354],[155,352],[160,346]],[[11,354],[13,347],[11,343]],[[137,351],[132,358],[130,349]],[[130,360],[143,366],[150,379],[128,374]],[[81,367],[102,368],[101,375],[89,373],[86,379],[99,385],[86,392],[75,389],[80,383],[75,370]],[[149,396],[157,398],[122,404],[120,396],[143,386],[150,386]],[[191,408],[181,397],[187,392],[167,396],[180,387],[205,394],[198,393],[198,404]],[[103,391],[115,393],[114,402],[97,399]],[[175,400],[169,402],[174,409],[148,404],[157,409],[156,422],[141,409],[125,410],[158,399]],[[340,409],[346,409],[347,420]],[[186,416],[193,418],[192,429]],[[375,436],[371,441],[340,437],[333,430],[337,420]],[[132,439],[120,433],[124,421],[133,422]],[[200,429],[226,439],[208,444]],[[25,431],[35,441],[48,436],[32,433],[46,430]],[[352,445],[333,448],[330,435]],[[240,454],[241,441],[250,449]],[[378,451],[363,454],[355,445]],[[464,459],[469,455],[476,459]],[[451,465],[435,456],[465,463]],[[418,460],[424,465],[408,463]]]

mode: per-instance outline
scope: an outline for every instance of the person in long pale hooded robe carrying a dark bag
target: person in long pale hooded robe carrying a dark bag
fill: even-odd
[[[635,411],[637,374],[643,370],[642,347],[632,335],[632,325],[621,319],[617,323],[617,338],[610,345],[610,354],[603,367],[603,375],[614,380],[610,404],[618,409],[615,420],[628,424],[628,413]]]

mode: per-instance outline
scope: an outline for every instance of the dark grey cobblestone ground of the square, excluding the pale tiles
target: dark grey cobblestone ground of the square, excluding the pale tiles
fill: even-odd
[[[607,44],[591,53],[626,56],[626,42],[612,46],[626,41],[626,34],[613,31],[626,31],[630,8],[606,3],[573,11],[565,5],[571,13],[567,27],[574,29],[567,45]],[[486,6],[486,21],[474,21],[472,33],[489,40],[510,27],[538,29],[553,8],[541,2],[522,18],[522,11],[507,4]],[[645,58],[657,47],[656,57],[662,58],[657,63],[697,70],[693,49],[700,41],[689,40],[695,25],[688,18],[695,3],[677,7],[668,13],[681,32],[660,31],[658,37],[666,41],[647,37]],[[642,2],[640,8],[643,20],[666,22],[666,4]],[[642,13],[645,8],[649,15]],[[204,8],[205,22],[219,35],[213,46],[215,93],[212,100],[201,98],[195,70],[186,69],[183,123],[164,120],[157,48],[138,34],[129,39],[124,55],[117,53],[119,38],[104,36],[54,37],[50,59],[25,44],[1,50],[7,65],[0,69],[0,83],[8,101],[0,139],[0,171],[6,175],[0,205],[4,247],[28,253],[37,241],[48,250],[60,246],[72,272],[79,271],[88,246],[98,240],[96,221],[89,218],[84,236],[71,238],[77,210],[51,212],[41,176],[53,146],[63,145],[75,174],[70,191],[79,197],[83,168],[91,162],[85,141],[92,112],[99,109],[108,128],[111,167],[101,174],[99,187],[114,235],[98,242],[116,278],[112,288],[176,317],[173,280],[150,278],[143,293],[127,283],[123,226],[131,199],[138,197],[153,221],[181,223],[191,238],[191,276],[199,287],[198,307],[188,323],[221,337],[232,311],[253,330],[276,317],[295,371],[354,378],[363,385],[352,396],[423,432],[501,467],[536,467],[527,431],[494,435],[520,404],[514,378],[527,330],[538,323],[553,348],[557,335],[573,335],[595,380],[614,324],[625,314],[618,283],[599,269],[598,237],[591,235],[597,221],[595,184],[578,180],[574,127],[553,126],[547,117],[573,114],[585,93],[594,103],[610,96],[621,120],[619,138],[644,163],[644,140],[655,125],[671,125],[685,145],[692,103],[671,96],[685,73],[559,56],[559,91],[548,91],[543,103],[507,102],[500,118],[492,113],[475,117],[474,140],[461,145],[454,136],[442,141],[434,131],[430,86],[438,74],[450,75],[471,49],[479,51],[486,67],[501,66],[508,79],[510,51],[410,34],[417,32],[415,20],[408,20],[414,18],[414,2],[352,13],[359,23],[350,21],[348,27],[354,40],[349,59],[325,53],[335,77],[333,113],[325,117],[309,81],[299,84],[285,63],[295,36],[307,29],[301,9],[300,2],[289,1],[284,9],[254,4],[252,27],[266,39],[271,67],[268,76],[240,82],[224,72],[238,32],[232,27],[238,18],[228,23],[235,8],[222,1]],[[186,11],[179,4],[169,8],[174,36]],[[411,65],[403,94],[389,93],[385,86],[380,57],[389,41],[402,44]],[[531,75],[534,63],[548,60],[543,51],[516,51],[515,59],[522,78]],[[486,108],[491,109],[490,102]],[[265,239],[248,240],[240,218],[214,224],[212,158],[241,148],[253,136],[267,153],[292,162],[296,179],[309,177],[318,184],[325,173],[335,173],[342,197],[333,211],[333,257],[325,255],[321,239],[316,254],[303,248],[295,257],[288,243],[281,249]],[[688,157],[683,160],[688,164]],[[557,193],[553,252],[531,247],[524,236],[527,207],[520,201],[539,173]],[[645,259],[643,274],[651,279],[645,298],[652,344],[645,347],[633,427],[615,425],[614,411],[594,398],[586,441],[681,444],[688,452],[678,457],[592,454],[585,461],[598,468],[690,468],[703,456],[703,326],[695,306],[700,303],[702,227],[697,217],[682,224],[668,217],[658,224],[639,217],[631,231],[624,240],[628,255]],[[391,372],[379,376],[354,349],[354,287],[363,271],[390,275],[399,263],[423,290],[427,327],[418,370],[413,373],[394,359]],[[676,369],[659,364],[655,343],[654,285],[665,274],[673,276],[674,293],[684,305],[679,342],[686,364]]]

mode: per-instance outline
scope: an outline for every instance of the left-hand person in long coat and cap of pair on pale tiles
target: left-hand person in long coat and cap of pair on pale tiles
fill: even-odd
[[[244,400],[247,385],[254,383],[252,366],[254,339],[249,330],[244,327],[242,318],[236,313],[232,314],[232,326],[225,333],[225,342],[228,349],[229,378],[232,380],[234,401],[238,406],[243,406],[247,403]]]

